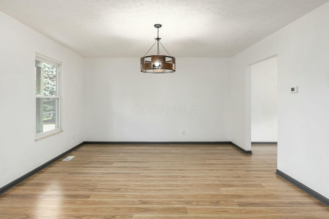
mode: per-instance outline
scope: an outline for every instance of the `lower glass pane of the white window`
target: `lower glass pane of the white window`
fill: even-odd
[[[36,98],[36,134],[59,128],[59,98]]]

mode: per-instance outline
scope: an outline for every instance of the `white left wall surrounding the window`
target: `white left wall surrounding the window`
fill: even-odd
[[[0,188],[83,141],[83,58],[0,12]],[[35,139],[35,52],[63,63],[63,130]],[[73,140],[73,134],[75,139]]]

